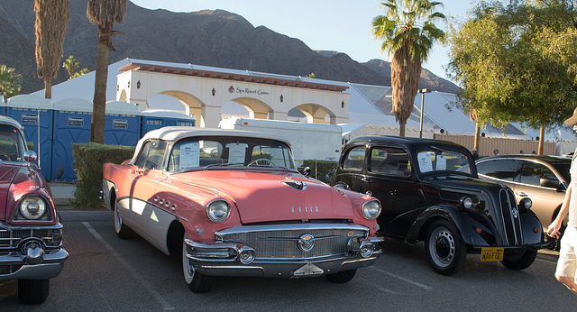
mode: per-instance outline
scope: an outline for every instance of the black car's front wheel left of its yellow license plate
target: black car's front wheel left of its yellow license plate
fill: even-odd
[[[426,258],[433,270],[451,275],[463,267],[467,257],[465,243],[447,220],[437,220],[426,231]]]

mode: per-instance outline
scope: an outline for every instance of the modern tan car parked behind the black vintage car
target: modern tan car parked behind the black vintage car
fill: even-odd
[[[546,229],[561,209],[571,177],[571,158],[500,155],[477,161],[479,177],[508,186],[517,201],[529,197],[531,210]]]

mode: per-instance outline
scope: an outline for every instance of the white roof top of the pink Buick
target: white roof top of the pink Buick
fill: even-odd
[[[132,163],[135,161],[135,158],[138,156],[139,151],[142,149],[142,144],[148,140],[163,140],[163,141],[177,141],[182,138],[187,138],[191,136],[241,136],[247,138],[261,138],[261,139],[269,139],[269,140],[276,140],[280,142],[284,142],[285,144],[290,146],[290,142],[286,139],[271,135],[268,133],[257,133],[253,131],[243,131],[243,130],[227,130],[227,129],[218,129],[218,128],[197,128],[197,127],[190,127],[190,126],[172,126],[172,127],[163,127],[160,129],[152,130],[142,137],[136,144],[136,149],[134,150],[134,156]]]

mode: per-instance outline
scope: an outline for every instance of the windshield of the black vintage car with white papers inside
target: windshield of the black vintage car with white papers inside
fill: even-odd
[[[444,173],[472,174],[471,161],[460,151],[445,151],[437,148],[419,150],[417,167],[424,174]]]

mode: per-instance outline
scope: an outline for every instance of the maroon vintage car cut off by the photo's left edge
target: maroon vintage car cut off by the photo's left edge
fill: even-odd
[[[39,304],[69,253],[46,179],[26,151],[23,127],[0,116],[0,281],[18,280],[18,297]]]

